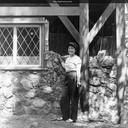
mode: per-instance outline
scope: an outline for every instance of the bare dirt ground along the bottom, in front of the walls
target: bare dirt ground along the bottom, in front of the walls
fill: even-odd
[[[52,115],[0,117],[0,128],[128,128],[128,126],[112,125],[105,122],[66,123],[55,119],[56,117]]]

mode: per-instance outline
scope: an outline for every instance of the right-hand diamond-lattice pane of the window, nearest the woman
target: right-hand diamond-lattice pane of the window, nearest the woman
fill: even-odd
[[[40,28],[17,27],[17,62],[19,65],[39,65]]]

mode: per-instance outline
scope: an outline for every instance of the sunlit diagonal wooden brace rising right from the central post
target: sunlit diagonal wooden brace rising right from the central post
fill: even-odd
[[[91,43],[92,40],[94,39],[94,37],[97,35],[97,33],[99,32],[99,30],[102,28],[102,26],[104,25],[104,23],[106,22],[106,20],[109,18],[109,16],[112,14],[112,12],[115,9],[115,3],[112,1],[108,7],[106,8],[106,10],[103,12],[103,14],[100,16],[100,18],[98,19],[98,21],[95,23],[95,25],[93,26],[93,28],[90,30],[90,32],[88,33],[88,38],[89,38],[89,42]]]

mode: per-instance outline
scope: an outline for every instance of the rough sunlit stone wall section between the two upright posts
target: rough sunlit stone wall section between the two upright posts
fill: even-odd
[[[117,123],[119,118],[115,60],[105,55],[105,51],[101,51],[97,56],[90,57],[89,67],[89,117],[93,120]]]

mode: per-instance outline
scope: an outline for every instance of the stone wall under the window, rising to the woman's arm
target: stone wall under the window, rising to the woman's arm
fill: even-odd
[[[0,71],[0,115],[60,113],[64,70],[57,54],[46,52],[42,71]]]

